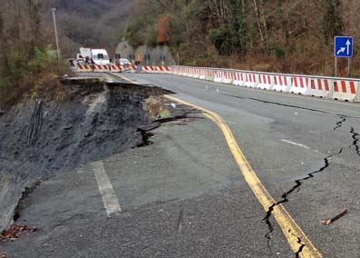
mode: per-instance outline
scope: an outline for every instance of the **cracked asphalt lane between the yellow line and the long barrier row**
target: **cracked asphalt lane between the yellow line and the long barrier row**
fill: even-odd
[[[324,257],[360,256],[356,247],[360,238],[359,104],[173,75],[127,77],[141,84],[166,87],[178,98],[224,117],[249,163],[277,201],[297,186],[295,180],[305,178],[287,196],[287,211]],[[314,177],[306,179],[311,173],[315,173]],[[336,223],[320,223],[345,208],[348,213]]]

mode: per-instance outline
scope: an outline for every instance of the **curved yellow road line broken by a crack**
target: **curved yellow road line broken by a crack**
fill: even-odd
[[[121,75],[119,75],[121,76]],[[122,76],[121,76],[122,77]],[[137,84],[136,82],[122,77],[124,80],[131,82],[133,84]],[[174,96],[165,95],[166,98],[171,101],[178,102],[181,104],[186,104],[191,107],[194,107],[200,110],[204,115],[206,115],[210,120],[212,120],[215,124],[218,124],[220,130],[225,136],[231,154],[234,156],[235,161],[240,168],[241,173],[243,174],[248,186],[251,188],[252,192],[258,198],[258,202],[264,207],[264,210],[268,212],[268,207],[276,203],[273,197],[271,197],[268,190],[258,179],[258,175],[251,168],[250,164],[248,164],[248,160],[245,155],[242,153],[238,143],[232,134],[229,125],[226,124],[224,119],[212,111],[209,111],[203,107],[200,107],[195,104],[190,104],[188,102],[182,101]],[[321,253],[319,253],[314,246],[313,243],[306,237],[306,234],[301,230],[301,228],[297,225],[294,219],[287,213],[287,210],[282,204],[274,206],[274,210],[272,212],[273,216],[277,220],[278,225],[283,231],[284,235],[287,238],[287,242],[290,244],[291,249],[297,253],[298,250],[303,246],[303,250],[300,253],[302,258],[320,258],[323,257]],[[300,241],[299,241],[300,240]]]

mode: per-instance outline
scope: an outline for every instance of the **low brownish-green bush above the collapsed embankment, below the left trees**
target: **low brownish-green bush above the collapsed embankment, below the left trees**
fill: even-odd
[[[45,94],[53,96],[54,99],[62,99],[59,97],[59,76],[71,74],[71,71],[68,65],[58,62],[51,55],[51,49],[51,45],[44,49],[35,47],[32,58],[15,50],[2,55],[7,67],[0,74],[1,106],[15,104],[24,94],[33,98]]]

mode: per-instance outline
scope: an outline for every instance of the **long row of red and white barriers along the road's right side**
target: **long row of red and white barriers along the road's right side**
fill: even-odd
[[[360,102],[360,79],[304,74],[275,74],[209,67],[170,66],[170,74],[219,84],[258,88],[325,99]],[[200,74],[200,75],[199,75]],[[201,76],[205,74],[205,77]]]

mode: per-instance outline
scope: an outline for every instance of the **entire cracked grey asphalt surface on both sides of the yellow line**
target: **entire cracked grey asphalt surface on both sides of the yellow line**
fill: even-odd
[[[359,257],[360,105],[124,74],[221,115],[268,192],[324,257]],[[136,85],[134,85],[136,86]],[[208,86],[208,87],[206,87]],[[208,90],[207,90],[208,89]],[[200,114],[155,130],[154,144],[102,160],[122,211],[107,216],[96,168],[47,180],[19,223],[36,233],[8,257],[295,257],[238,170],[216,124]],[[310,174],[310,175],[309,175]],[[296,182],[297,181],[297,182]],[[348,213],[323,225],[345,208]]]

